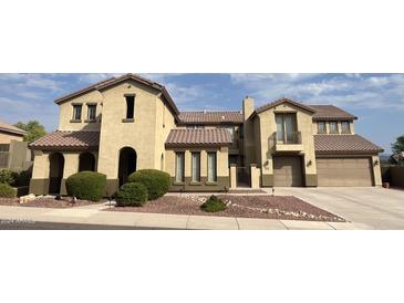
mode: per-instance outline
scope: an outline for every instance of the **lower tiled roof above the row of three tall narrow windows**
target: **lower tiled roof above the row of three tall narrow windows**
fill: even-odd
[[[222,146],[231,143],[230,133],[225,128],[172,129],[168,134],[166,146]]]

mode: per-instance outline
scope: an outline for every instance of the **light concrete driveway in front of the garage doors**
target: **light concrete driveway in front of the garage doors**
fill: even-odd
[[[267,189],[272,192],[272,189]],[[358,229],[404,229],[404,190],[375,187],[276,188],[333,212]]]

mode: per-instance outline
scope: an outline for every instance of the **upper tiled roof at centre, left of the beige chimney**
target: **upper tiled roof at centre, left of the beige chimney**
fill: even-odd
[[[180,124],[241,124],[244,122],[240,112],[182,112]]]

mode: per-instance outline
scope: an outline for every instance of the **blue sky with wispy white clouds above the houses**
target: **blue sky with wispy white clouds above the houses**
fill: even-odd
[[[58,127],[53,100],[116,74],[0,74],[0,119]],[[404,74],[142,74],[165,85],[179,111],[241,108],[279,97],[333,104],[359,116],[355,130],[390,153],[404,134]]]

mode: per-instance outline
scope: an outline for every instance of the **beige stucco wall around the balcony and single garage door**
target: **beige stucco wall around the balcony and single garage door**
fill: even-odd
[[[274,119],[276,113],[296,113],[298,130],[301,132],[303,150],[299,153],[304,158],[304,174],[315,175],[315,155],[314,155],[314,138],[313,138],[313,122],[312,114],[290,104],[280,104],[268,111],[258,114],[259,118],[259,146],[261,148],[260,159],[262,175],[272,175],[272,154],[274,153],[274,133],[277,132],[277,124]],[[257,119],[257,117],[256,117]],[[308,166],[308,163],[311,165]]]

